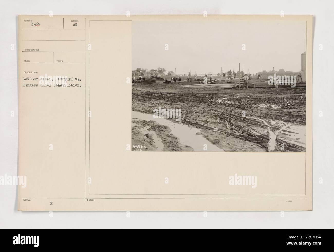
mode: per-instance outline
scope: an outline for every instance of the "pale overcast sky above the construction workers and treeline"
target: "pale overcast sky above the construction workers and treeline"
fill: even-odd
[[[296,72],[305,51],[305,21],[132,21],[132,69],[237,72],[240,62],[250,73],[261,66]]]

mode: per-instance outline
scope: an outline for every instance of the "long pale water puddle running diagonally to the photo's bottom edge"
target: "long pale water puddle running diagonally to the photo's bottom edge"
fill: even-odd
[[[194,151],[204,151],[203,145],[207,145],[207,151],[217,151],[222,152],[224,150],[218,148],[217,146],[211,144],[207,139],[202,137],[201,135],[196,135],[196,133],[200,132],[199,129],[190,128],[186,124],[179,124],[172,122],[171,120],[165,118],[153,118],[152,114],[145,114],[138,111],[132,111],[132,118],[138,118],[140,120],[145,121],[155,121],[161,125],[168,126],[172,134],[177,137],[180,142],[184,145],[188,145],[194,149]]]

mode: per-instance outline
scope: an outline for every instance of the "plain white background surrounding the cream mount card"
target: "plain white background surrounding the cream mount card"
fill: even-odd
[[[5,1],[0,0],[0,175],[17,174],[17,15],[313,15],[313,211],[18,212],[16,186],[0,185],[0,228],[333,228],[333,1]],[[245,34],[247,36],[247,34]],[[294,34],[275,34],[294,39]],[[15,50],[11,50],[11,44]],[[323,50],[319,50],[323,44]],[[275,57],[275,55],[273,55]],[[11,117],[11,111],[15,116]],[[319,111],[323,111],[323,117]],[[323,184],[319,183],[323,178]]]

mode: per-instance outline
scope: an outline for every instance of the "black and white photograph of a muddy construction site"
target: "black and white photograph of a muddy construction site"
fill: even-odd
[[[306,22],[132,22],[132,151],[305,152]]]

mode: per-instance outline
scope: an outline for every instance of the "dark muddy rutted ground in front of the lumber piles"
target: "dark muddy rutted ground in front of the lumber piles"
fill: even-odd
[[[199,131],[221,151],[304,152],[305,88],[185,87],[178,84],[132,86],[132,110],[181,109],[181,121]],[[138,117],[138,116],[137,116]],[[181,143],[170,127],[154,120],[132,119],[133,151],[193,151]],[[209,151],[209,150],[208,150]]]

